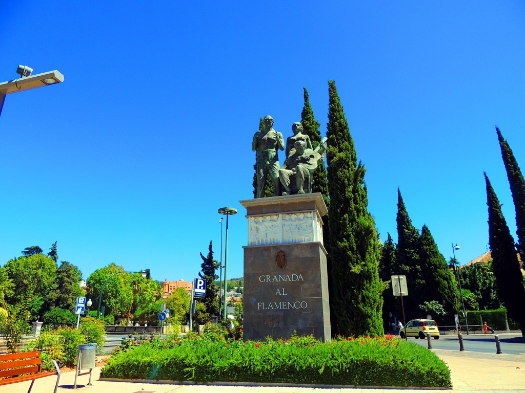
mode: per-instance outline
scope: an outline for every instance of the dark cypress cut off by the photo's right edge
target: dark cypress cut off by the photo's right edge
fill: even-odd
[[[510,191],[512,192],[512,200],[514,201],[514,209],[516,210],[516,234],[518,235],[518,251],[521,254],[521,260],[525,261],[525,180],[521,174],[520,167],[514,154],[510,149],[509,144],[496,126],[496,133],[498,134],[499,146],[501,148],[501,156],[507,171],[507,178],[509,179]]]

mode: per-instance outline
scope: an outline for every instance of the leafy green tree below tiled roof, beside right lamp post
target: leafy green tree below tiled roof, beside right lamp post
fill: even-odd
[[[497,310],[503,307],[498,296],[491,260],[485,264],[463,266],[458,269],[458,274],[461,288],[472,292],[480,310]]]

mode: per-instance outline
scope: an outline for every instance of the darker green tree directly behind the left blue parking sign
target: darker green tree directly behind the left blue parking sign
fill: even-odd
[[[52,258],[51,258],[52,259]],[[61,261],[56,270],[53,290],[46,295],[47,309],[58,307],[64,310],[75,310],[77,297],[84,296],[84,291],[79,286],[82,272],[68,261]]]

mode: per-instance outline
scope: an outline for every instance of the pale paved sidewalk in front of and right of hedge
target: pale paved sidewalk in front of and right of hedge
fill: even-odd
[[[525,393],[525,356],[496,355],[476,352],[433,350],[442,358],[451,370],[454,392],[479,393]],[[312,388],[312,387],[276,387],[276,386],[206,386],[175,385],[100,381],[100,367],[93,370],[92,386],[85,386],[89,376],[77,378],[79,393],[306,393],[306,392],[351,392],[351,393],[436,393],[439,390],[419,389],[361,389],[361,388]],[[75,381],[75,372],[63,373],[57,393],[71,392]],[[53,391],[56,378],[37,379],[33,386],[35,393]],[[2,386],[2,393],[26,393],[30,382]]]

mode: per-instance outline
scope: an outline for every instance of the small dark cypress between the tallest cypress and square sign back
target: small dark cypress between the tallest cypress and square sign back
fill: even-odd
[[[381,249],[379,278],[384,282],[383,321],[388,330],[395,330],[396,328],[392,324],[394,323],[394,316],[398,313],[398,309],[396,298],[392,293],[391,280],[392,276],[397,274],[397,251],[392,236],[390,236],[390,233],[387,233],[387,235],[388,238]],[[399,307],[399,313],[401,313],[401,306]]]

